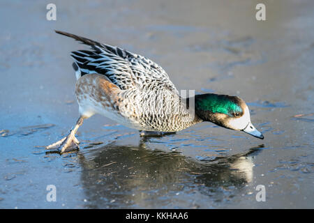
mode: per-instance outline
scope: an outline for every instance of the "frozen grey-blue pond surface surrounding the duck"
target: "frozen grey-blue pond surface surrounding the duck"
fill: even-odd
[[[314,1],[0,3],[0,208],[314,208]],[[80,151],[68,31],[147,56],[177,89],[239,95],[265,139],[200,123],[141,139],[93,116]],[[57,189],[48,202],[47,185]],[[266,201],[256,200],[264,185]]]

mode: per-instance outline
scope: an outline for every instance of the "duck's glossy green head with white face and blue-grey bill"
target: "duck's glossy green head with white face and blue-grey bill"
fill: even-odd
[[[224,128],[244,131],[264,139],[251,123],[248,106],[241,98],[207,93],[195,95],[195,112],[203,121],[210,121]]]

